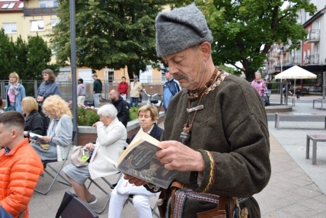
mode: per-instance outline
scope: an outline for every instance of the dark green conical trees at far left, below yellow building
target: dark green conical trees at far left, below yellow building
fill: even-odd
[[[0,31],[0,79],[8,79],[11,72],[17,72],[20,79],[42,79],[46,68],[58,72],[56,64],[50,64],[52,52],[40,36],[29,36],[28,42],[21,36],[14,42]]]

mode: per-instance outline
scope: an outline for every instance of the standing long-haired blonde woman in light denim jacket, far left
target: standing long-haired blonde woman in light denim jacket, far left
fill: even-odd
[[[22,113],[21,100],[26,96],[25,88],[20,84],[19,75],[16,72],[9,74],[9,84],[6,87],[6,107],[14,106],[15,111]]]

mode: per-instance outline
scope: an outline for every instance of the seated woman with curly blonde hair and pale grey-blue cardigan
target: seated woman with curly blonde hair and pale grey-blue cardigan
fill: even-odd
[[[61,161],[69,152],[72,140],[72,115],[68,103],[59,95],[47,97],[42,105],[45,116],[50,118],[46,136],[40,137],[40,143],[31,143],[42,160]],[[40,144],[46,144],[42,146]]]

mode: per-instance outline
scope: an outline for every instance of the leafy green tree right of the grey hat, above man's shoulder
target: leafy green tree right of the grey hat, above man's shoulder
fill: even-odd
[[[174,2],[174,1],[171,1]],[[182,1],[172,6],[186,5]],[[197,0],[196,5],[206,16],[214,37],[212,58],[215,65],[231,64],[254,79],[263,66],[268,49],[275,43],[290,41],[289,49],[300,46],[307,36],[297,23],[297,12],[304,9],[312,15],[316,7],[306,0]],[[288,6],[284,9],[283,4]],[[243,68],[236,65],[240,62]]]

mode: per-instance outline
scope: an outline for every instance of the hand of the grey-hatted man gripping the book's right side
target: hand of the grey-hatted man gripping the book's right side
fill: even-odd
[[[204,172],[204,158],[195,151],[177,141],[164,141],[158,144],[162,150],[156,152],[159,161],[167,170]]]

